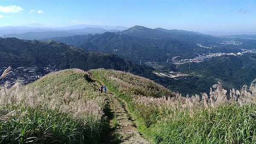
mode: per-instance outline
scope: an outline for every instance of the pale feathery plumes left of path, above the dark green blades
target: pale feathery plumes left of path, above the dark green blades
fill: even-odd
[[[81,89],[74,90],[74,87],[70,90],[71,86],[67,86],[65,89],[59,89],[59,80],[48,83],[47,87],[41,84],[41,81],[54,80],[55,78],[52,77],[55,76],[65,78],[71,73],[80,74],[79,82],[70,80],[69,82],[77,83],[77,86],[80,84],[85,85],[83,91]],[[90,113],[96,118],[100,118],[104,114],[102,110],[105,107],[106,100],[103,95],[99,96],[92,84],[86,82],[85,79],[81,79],[83,78],[81,75],[86,74],[80,69],[63,70],[46,75],[38,82],[35,82],[35,84],[29,84],[27,86],[24,86],[22,81],[17,80],[10,88],[9,82],[6,81],[5,85],[0,87],[0,106],[9,109],[15,109],[15,107],[57,108],[60,112],[68,112],[70,115],[75,113],[76,115],[78,113],[88,115]],[[65,81],[60,81],[60,83],[64,84]],[[48,95],[49,92],[50,95]]]

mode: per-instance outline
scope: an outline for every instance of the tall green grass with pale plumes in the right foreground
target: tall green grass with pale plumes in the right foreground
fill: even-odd
[[[231,89],[229,94],[221,84],[215,84],[209,95],[134,96],[133,101],[146,127],[152,131],[158,128],[152,135],[156,143],[253,144],[256,143],[255,81],[249,89],[243,86],[240,91]]]

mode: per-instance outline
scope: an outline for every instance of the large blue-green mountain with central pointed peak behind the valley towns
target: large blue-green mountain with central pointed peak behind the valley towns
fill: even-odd
[[[143,26],[134,26],[121,32],[48,39],[90,51],[113,53],[137,63],[140,61],[167,61],[175,56],[193,58],[202,53],[241,51],[241,46],[226,45],[223,42],[228,41],[228,38],[212,37],[183,30],[149,29]],[[243,43],[242,47],[253,46],[253,42],[249,46]],[[211,49],[203,46],[211,47]]]

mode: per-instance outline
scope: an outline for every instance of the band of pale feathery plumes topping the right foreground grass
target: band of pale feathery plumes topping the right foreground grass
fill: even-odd
[[[175,97],[163,96],[162,98],[134,95],[133,101],[139,105],[143,104],[148,108],[156,107],[160,111],[165,107],[165,110],[166,108],[170,109],[174,114],[177,111],[182,112],[185,109],[189,109],[190,116],[192,116],[197,109],[208,109],[210,111],[212,108],[220,105],[236,104],[243,106],[245,104],[256,103],[256,79],[251,83],[249,89],[247,86],[243,86],[240,91],[230,89],[229,95],[227,94],[227,90],[223,89],[220,83],[213,85],[212,88],[210,89],[209,95],[205,92],[202,93],[201,96],[187,95],[186,97],[179,94],[176,94]],[[163,111],[163,113],[164,112],[167,111]],[[175,117],[175,115],[172,116]]]

